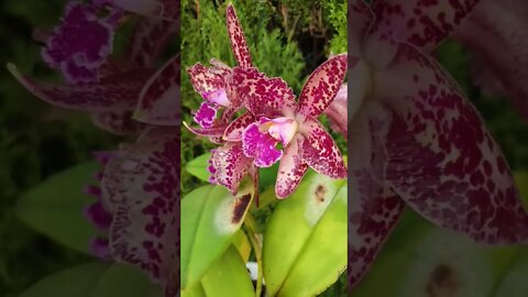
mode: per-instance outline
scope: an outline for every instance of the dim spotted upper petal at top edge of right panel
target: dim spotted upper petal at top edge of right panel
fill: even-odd
[[[375,0],[377,37],[408,42],[432,50],[444,40],[480,0]]]

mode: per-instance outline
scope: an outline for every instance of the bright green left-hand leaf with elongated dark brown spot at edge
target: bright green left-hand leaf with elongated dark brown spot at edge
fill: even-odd
[[[222,186],[205,186],[182,200],[182,288],[195,286],[226,252],[251,205],[251,186],[233,197]]]

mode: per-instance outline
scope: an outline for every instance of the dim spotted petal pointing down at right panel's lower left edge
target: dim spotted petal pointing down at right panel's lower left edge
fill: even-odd
[[[363,277],[399,219],[405,202],[369,170],[352,174],[349,201],[349,292]]]

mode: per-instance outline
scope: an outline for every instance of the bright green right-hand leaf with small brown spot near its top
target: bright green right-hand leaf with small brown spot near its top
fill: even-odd
[[[277,204],[264,235],[270,296],[315,296],[346,267],[346,184],[323,175],[305,178]]]

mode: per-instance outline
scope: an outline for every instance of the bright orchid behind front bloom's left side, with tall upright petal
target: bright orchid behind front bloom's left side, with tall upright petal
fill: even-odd
[[[228,4],[226,14],[231,50],[239,64],[237,67],[252,67],[250,47],[231,3]],[[221,138],[230,118],[243,108],[243,101],[231,91],[233,69],[215,58],[211,59],[211,65],[206,67],[197,63],[187,69],[193,87],[205,100],[195,112],[195,121],[201,129],[187,128],[196,134],[210,136],[213,142],[221,142],[215,138]],[[223,113],[217,119],[220,111]]]

